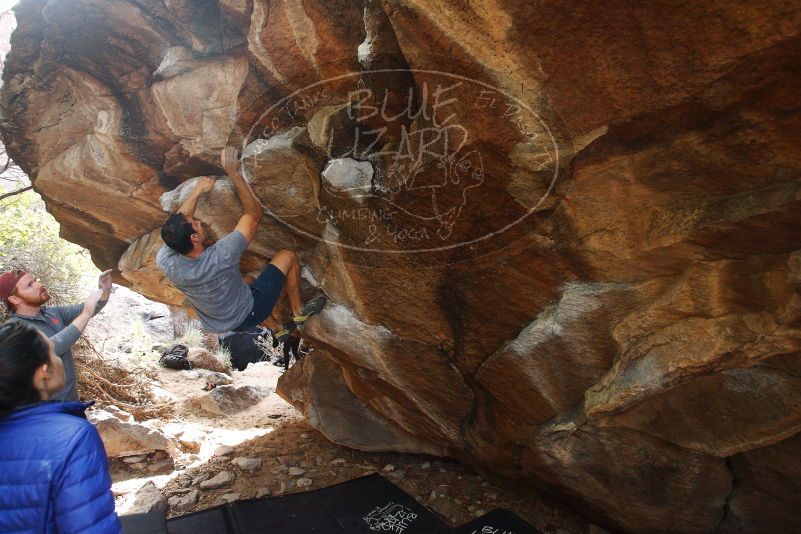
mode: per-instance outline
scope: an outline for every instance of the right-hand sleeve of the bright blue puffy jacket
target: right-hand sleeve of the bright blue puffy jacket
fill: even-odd
[[[53,513],[60,534],[122,532],[114,511],[106,450],[88,421],[72,439],[53,484]]]

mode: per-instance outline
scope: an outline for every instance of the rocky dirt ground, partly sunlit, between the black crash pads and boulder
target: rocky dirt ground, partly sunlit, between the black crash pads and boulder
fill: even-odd
[[[191,371],[158,369],[157,373],[163,389],[176,396],[191,398],[202,393],[202,384],[191,378]],[[238,384],[267,386],[274,391],[280,373],[278,367],[263,362],[234,375]],[[200,491],[194,506],[180,511],[168,510],[169,516],[217,506],[226,500],[323,488],[378,472],[451,526],[495,508],[506,508],[544,532],[587,531],[586,523],[537,495],[520,495],[496,487],[453,460],[415,454],[369,453],[331,443],[275,393],[233,417],[215,417],[182,402],[164,424],[181,425],[201,442],[198,453],[182,458],[174,473],[154,477],[166,496],[185,492],[186,477],[197,481],[222,471],[236,476],[230,486]],[[240,469],[232,464],[232,460],[239,457],[260,459],[261,466],[253,471]],[[132,480],[130,476],[124,471],[115,473],[116,479],[128,479],[128,483],[143,481]],[[309,485],[301,487],[299,481]],[[191,487],[196,484],[193,482]]]

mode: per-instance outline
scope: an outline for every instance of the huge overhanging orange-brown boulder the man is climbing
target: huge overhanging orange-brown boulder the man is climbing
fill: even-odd
[[[292,248],[330,297],[280,385],[326,436],[613,530],[799,528],[797,3],[202,6],[17,7],[0,129],[64,237],[184,304],[163,210],[239,145],[243,272]]]

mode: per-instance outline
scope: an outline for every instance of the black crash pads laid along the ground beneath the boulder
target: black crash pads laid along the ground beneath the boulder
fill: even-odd
[[[539,534],[495,510],[451,529],[375,474],[324,489],[225,504],[167,522],[169,534]],[[126,533],[127,534],[127,533]]]

